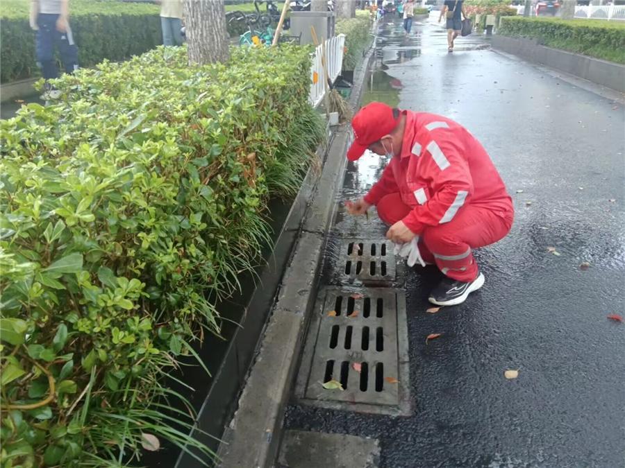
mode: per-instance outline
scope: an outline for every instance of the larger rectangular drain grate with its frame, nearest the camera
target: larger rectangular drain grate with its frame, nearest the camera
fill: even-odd
[[[408,416],[409,377],[404,290],[328,286],[319,291],[295,389],[299,403]],[[326,390],[323,383],[330,380],[340,381],[344,390]]]

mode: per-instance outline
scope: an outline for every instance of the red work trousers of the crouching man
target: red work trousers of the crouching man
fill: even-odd
[[[411,210],[401,201],[399,193],[383,196],[376,208],[387,225],[397,223]],[[510,232],[513,218],[512,211],[493,211],[469,203],[449,223],[427,226],[419,234],[421,256],[428,263],[436,263],[443,275],[458,281],[473,281],[478,267],[472,249],[503,239]]]

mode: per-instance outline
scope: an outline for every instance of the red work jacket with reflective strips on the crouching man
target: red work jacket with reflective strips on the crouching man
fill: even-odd
[[[486,150],[462,125],[425,112],[403,111],[406,129],[401,155],[394,156],[365,196],[372,205],[399,192],[412,208],[403,218],[419,234],[426,226],[449,223],[467,205],[505,216],[512,198]]]

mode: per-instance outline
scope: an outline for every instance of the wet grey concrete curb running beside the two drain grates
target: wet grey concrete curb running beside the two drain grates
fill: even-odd
[[[363,67],[358,70],[351,95],[352,105],[360,101],[373,51],[369,50]],[[340,187],[337,181],[344,173],[349,135],[351,132],[347,129],[341,130],[328,153],[303,223],[303,232],[283,275],[278,300],[256,361],[217,451],[220,467],[271,467],[276,460],[307,317],[317,299],[317,272],[322,263],[326,230],[335,208],[335,193]]]

